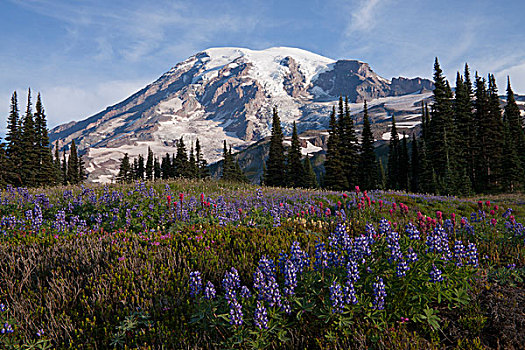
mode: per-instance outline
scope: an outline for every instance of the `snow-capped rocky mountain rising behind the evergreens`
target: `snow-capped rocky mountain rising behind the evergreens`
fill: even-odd
[[[126,100],[54,128],[50,138],[59,140],[60,148],[74,139],[85,152],[89,180],[107,182],[124,153],[145,154],[148,146],[158,155],[173,153],[181,136],[188,145],[198,137],[208,161],[216,161],[223,140],[240,149],[269,135],[274,106],[285,133],[293,121],[299,132],[326,129],[340,95],[349,97],[352,114],[368,101],[381,138],[387,131],[383,122],[394,112],[401,128],[417,125],[421,101],[432,88],[427,79],[387,80],[367,63],[335,61],[297,48],[211,48]]]

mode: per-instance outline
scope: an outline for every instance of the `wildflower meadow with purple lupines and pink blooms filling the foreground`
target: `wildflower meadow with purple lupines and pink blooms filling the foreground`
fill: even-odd
[[[524,215],[520,195],[8,187],[0,347],[519,349]]]

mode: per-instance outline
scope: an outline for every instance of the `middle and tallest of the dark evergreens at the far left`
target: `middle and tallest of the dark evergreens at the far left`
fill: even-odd
[[[37,169],[38,169],[38,148],[36,144],[35,122],[33,119],[31,89],[27,93],[27,109],[22,124],[22,134],[20,139],[20,158],[21,177],[24,186],[36,186]]]

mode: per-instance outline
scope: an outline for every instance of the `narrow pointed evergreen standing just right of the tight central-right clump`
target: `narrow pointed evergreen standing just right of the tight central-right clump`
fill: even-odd
[[[363,106],[363,132],[361,135],[361,154],[359,155],[359,186],[364,190],[377,188],[377,158],[374,152],[374,135],[370,127],[366,101]]]

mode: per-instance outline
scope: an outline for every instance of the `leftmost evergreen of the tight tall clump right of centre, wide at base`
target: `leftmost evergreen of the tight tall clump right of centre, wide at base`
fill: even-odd
[[[342,104],[340,105],[342,106]],[[328,133],[323,186],[336,191],[341,191],[348,188],[348,182],[343,171],[343,164],[339,153],[340,142],[337,121],[335,119],[335,107],[332,109],[332,114],[330,115],[330,130]]]

